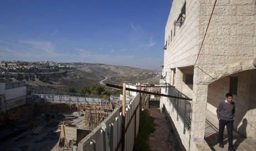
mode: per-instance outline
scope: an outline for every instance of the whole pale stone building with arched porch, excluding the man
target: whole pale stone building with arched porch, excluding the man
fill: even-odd
[[[173,120],[184,148],[200,150],[193,139],[204,139],[206,110],[216,115],[227,92],[236,103],[235,130],[256,140],[255,0],[174,0],[164,45],[162,77],[192,98],[190,130]],[[165,97],[160,107],[172,110]]]

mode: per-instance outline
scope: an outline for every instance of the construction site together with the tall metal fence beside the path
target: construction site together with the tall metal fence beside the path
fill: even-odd
[[[106,86],[123,94],[31,91],[25,82],[0,83],[0,150],[131,150],[140,111],[159,93],[137,84]]]

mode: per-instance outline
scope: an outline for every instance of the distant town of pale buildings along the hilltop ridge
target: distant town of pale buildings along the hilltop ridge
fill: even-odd
[[[26,62],[26,61],[1,61],[0,69],[2,74],[8,74],[12,72],[56,72],[59,69],[70,69],[74,66],[66,65],[61,62],[54,61],[38,61],[38,62]]]

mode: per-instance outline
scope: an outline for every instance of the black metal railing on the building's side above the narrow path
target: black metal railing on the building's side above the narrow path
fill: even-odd
[[[175,88],[168,88],[168,95],[188,98],[186,95],[182,94]],[[169,98],[169,101],[172,103],[187,130],[190,130],[192,117],[192,103],[189,99],[190,98],[188,98],[188,100]]]

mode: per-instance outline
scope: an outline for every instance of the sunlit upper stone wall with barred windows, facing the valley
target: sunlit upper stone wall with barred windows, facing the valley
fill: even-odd
[[[186,20],[181,27],[175,26],[181,9],[186,1],[173,1],[165,28],[164,73],[171,75],[171,68],[186,67],[194,64],[200,40],[199,35],[199,1],[186,2]],[[170,40],[169,40],[170,37]],[[170,83],[167,81],[167,83]]]

